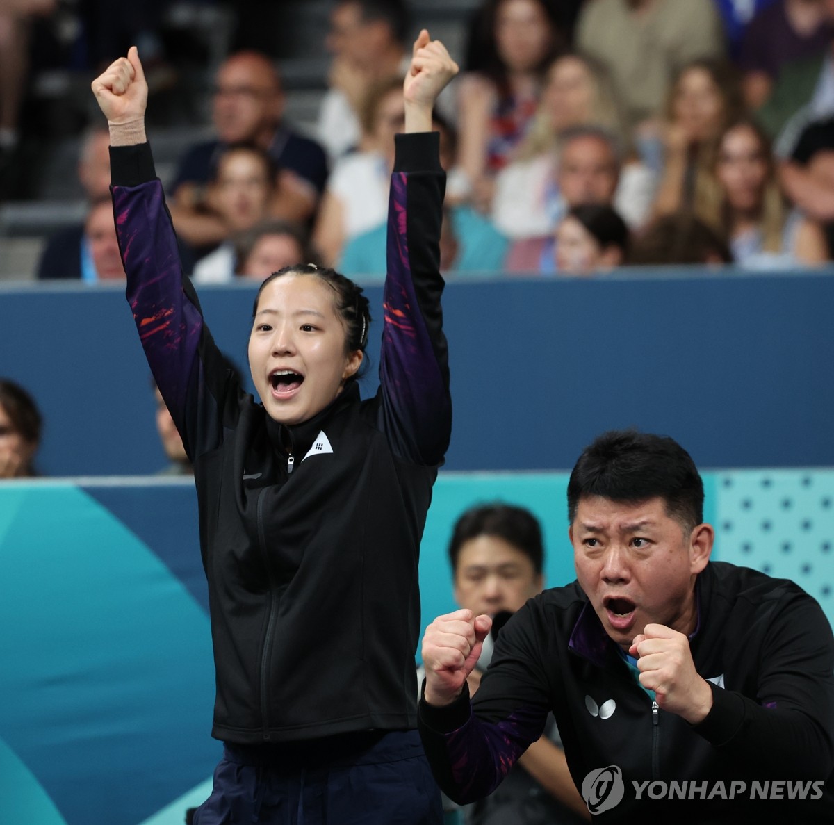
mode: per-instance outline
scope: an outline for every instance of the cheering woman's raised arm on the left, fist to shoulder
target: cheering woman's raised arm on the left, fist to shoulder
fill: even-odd
[[[154,380],[193,461],[222,434],[218,400],[232,373],[182,274],[145,134],[148,84],[135,46],[93,81],[93,93],[110,129],[113,212],[128,302]]]

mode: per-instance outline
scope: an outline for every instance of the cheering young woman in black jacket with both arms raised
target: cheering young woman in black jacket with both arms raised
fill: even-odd
[[[380,388],[356,284],[264,281],[234,379],[181,274],[144,133],[135,48],[93,82],[139,337],[193,461],[217,672],[214,791],[195,822],[440,822],[414,730],[417,561],[451,425],[438,271],[445,177],[431,110],[457,66],[425,31],[391,176]]]

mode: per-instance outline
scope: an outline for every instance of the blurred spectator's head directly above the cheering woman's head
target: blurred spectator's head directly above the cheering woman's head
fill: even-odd
[[[316,263],[304,231],[283,220],[267,220],[239,233],[234,238],[234,252],[238,261],[234,274],[256,281],[291,264]]]

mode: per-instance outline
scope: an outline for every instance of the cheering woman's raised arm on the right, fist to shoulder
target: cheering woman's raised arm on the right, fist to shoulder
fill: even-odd
[[[396,136],[379,377],[382,426],[400,458],[437,465],[449,445],[449,365],[440,294],[445,174],[431,112],[458,67],[425,29],[404,79],[405,134]]]

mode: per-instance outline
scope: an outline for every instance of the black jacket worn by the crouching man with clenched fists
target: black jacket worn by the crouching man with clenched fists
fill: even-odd
[[[700,724],[657,706],[574,582],[507,622],[471,706],[421,700],[440,787],[455,802],[490,793],[552,711],[594,821],[834,822],[825,614],[792,581],[717,561],[696,596],[690,649],[713,694]]]

